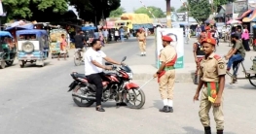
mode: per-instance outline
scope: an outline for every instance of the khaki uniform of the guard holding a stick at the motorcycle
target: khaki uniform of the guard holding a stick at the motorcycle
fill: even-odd
[[[177,55],[176,50],[168,45],[165,49],[161,50],[160,61],[168,63],[170,61],[176,60],[175,56]],[[174,61],[175,62],[175,61]],[[165,66],[165,74],[160,77],[159,90],[162,99],[173,99],[173,88],[175,82],[175,70],[173,66]],[[167,91],[165,90],[167,88]]]

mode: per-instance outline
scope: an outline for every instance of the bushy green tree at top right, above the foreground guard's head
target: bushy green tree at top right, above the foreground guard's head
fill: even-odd
[[[188,0],[189,13],[198,21],[204,22],[211,14],[211,6],[205,0]]]

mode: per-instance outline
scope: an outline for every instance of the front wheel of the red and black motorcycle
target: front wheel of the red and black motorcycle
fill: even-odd
[[[127,104],[130,109],[141,109],[145,104],[145,93],[137,88],[129,89],[127,92]]]

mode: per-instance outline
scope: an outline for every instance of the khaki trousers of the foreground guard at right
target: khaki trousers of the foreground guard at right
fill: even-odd
[[[223,98],[222,98],[223,102]],[[202,126],[210,126],[209,110],[212,107],[213,117],[216,122],[217,130],[224,129],[224,115],[223,115],[223,103],[221,102],[219,107],[214,107],[210,101],[208,101],[207,87],[203,87],[201,90],[201,104],[200,104],[200,119]]]

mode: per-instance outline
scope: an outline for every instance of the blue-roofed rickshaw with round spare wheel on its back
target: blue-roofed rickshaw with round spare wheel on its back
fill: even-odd
[[[23,68],[27,62],[43,67],[49,56],[49,37],[46,30],[18,30],[18,63]]]

